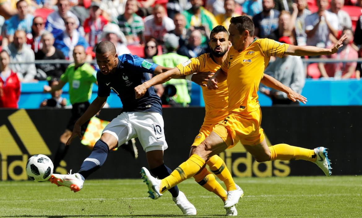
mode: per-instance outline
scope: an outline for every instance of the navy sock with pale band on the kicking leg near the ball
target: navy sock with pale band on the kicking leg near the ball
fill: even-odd
[[[102,140],[98,140],[93,147],[92,153],[85,158],[80,170],[78,171],[84,178],[87,178],[94,171],[98,170],[106,161],[109,148],[108,144]]]

